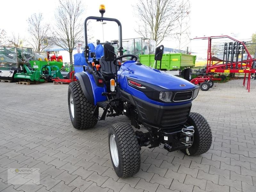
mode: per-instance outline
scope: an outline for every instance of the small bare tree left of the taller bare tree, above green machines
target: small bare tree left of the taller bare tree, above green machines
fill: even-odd
[[[29,43],[35,51],[41,52],[50,44],[48,42],[49,25],[43,23],[43,14],[34,13],[28,20],[28,33],[31,35]]]

